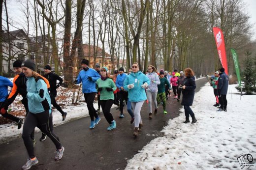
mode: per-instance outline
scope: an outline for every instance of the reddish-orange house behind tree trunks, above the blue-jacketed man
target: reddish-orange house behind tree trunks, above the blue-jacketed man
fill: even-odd
[[[83,57],[81,57],[81,56],[78,57],[77,51],[76,51],[76,55],[75,55],[76,63],[78,63],[78,65],[77,65],[78,68],[80,67],[80,63],[83,58],[86,58],[89,60],[89,45],[83,44],[82,48],[83,48]],[[94,47],[90,46],[90,49],[91,50],[90,50],[90,66],[89,67],[94,68]],[[107,67],[109,69],[109,72],[111,72],[111,70],[112,70],[112,65],[114,66],[114,69],[116,69],[117,58],[114,57],[114,62],[112,63],[111,56],[107,52],[105,52],[104,60],[103,60],[102,49],[99,47],[96,47],[96,49],[97,49],[96,50],[97,55],[96,55],[95,63],[99,63],[100,67],[102,67],[102,63],[103,63],[103,66]]]

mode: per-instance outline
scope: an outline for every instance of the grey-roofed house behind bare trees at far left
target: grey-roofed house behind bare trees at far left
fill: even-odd
[[[23,29],[5,32],[2,42],[3,72],[12,72],[12,64],[17,59],[32,59],[36,63],[37,71],[43,71],[43,67],[51,61],[52,46],[50,41],[47,35],[45,38],[42,35],[29,37]]]

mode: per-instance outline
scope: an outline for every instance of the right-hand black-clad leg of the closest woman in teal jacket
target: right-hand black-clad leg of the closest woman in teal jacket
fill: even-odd
[[[52,113],[49,114],[49,111],[35,114],[37,119],[37,127],[45,133],[55,144],[56,149],[61,149],[62,144],[59,140],[59,137],[56,136],[53,132],[53,116]]]

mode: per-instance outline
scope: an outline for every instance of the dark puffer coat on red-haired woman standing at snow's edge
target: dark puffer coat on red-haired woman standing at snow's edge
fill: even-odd
[[[184,80],[185,89],[182,89],[182,105],[192,106],[194,100],[195,81],[194,77],[186,77]]]

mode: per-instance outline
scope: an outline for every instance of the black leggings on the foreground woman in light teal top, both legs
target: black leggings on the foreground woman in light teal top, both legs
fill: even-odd
[[[22,138],[30,158],[35,157],[34,147],[31,140],[31,133],[34,131],[35,127],[38,127],[52,140],[56,146],[56,149],[62,148],[59,138],[53,133],[52,114],[49,114],[49,111],[44,111],[42,113],[29,112],[23,125]]]

